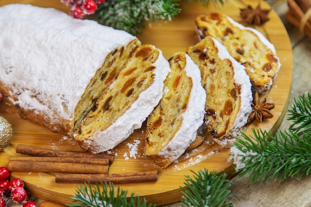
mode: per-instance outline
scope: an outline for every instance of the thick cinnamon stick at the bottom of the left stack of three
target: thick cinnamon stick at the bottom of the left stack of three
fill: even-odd
[[[24,162],[10,161],[7,168],[15,172],[55,172],[55,173],[81,173],[81,174],[107,174],[109,165],[89,165],[80,163],[62,162]]]

